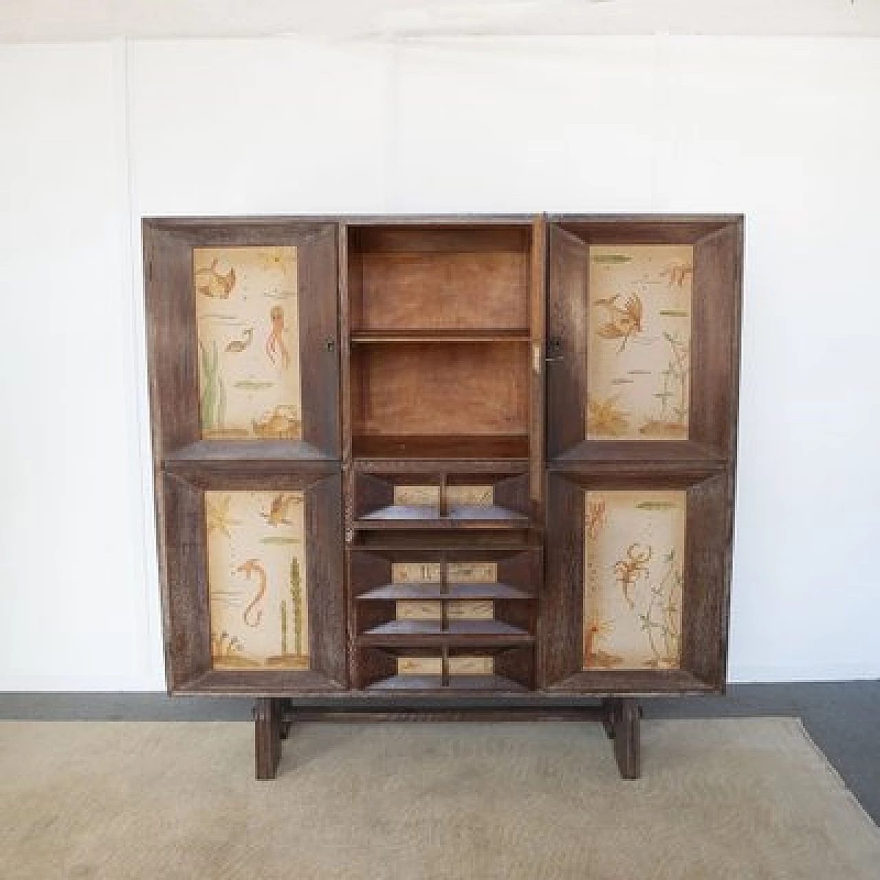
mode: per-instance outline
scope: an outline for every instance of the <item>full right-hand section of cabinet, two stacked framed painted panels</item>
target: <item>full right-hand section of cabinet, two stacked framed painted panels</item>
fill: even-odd
[[[541,686],[719,691],[742,218],[551,219]]]

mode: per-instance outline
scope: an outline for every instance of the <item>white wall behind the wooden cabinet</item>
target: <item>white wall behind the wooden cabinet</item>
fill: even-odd
[[[0,48],[0,690],[164,686],[138,218],[325,211],[744,212],[731,678],[880,676],[878,84],[880,40]]]

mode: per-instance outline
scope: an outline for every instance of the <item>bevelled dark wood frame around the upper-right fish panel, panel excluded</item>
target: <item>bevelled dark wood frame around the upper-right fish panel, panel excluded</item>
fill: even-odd
[[[547,224],[548,463],[732,460],[736,454],[742,216],[574,216]],[[689,431],[679,440],[587,440],[590,245],[693,245]]]

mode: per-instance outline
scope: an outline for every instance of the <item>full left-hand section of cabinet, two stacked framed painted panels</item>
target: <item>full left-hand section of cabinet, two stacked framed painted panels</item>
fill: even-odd
[[[336,224],[143,221],[172,693],[347,684]]]

